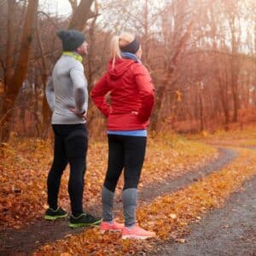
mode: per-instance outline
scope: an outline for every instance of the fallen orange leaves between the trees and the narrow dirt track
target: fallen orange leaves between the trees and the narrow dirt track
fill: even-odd
[[[181,176],[195,170],[212,157],[214,148],[189,142],[183,137],[163,136],[148,139],[146,160],[139,189],[148,183],[164,181],[166,177]],[[46,178],[52,162],[52,142],[39,139],[14,138],[7,144],[0,161],[0,225],[19,229],[42,218],[46,205]],[[90,141],[85,178],[86,207],[101,201],[101,189],[108,162],[108,145]],[[60,204],[70,209],[67,194],[69,168],[61,181]],[[123,186],[120,180],[117,194]]]

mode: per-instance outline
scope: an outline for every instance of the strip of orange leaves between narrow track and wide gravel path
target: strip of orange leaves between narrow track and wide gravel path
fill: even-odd
[[[101,235],[98,228],[78,236],[41,247],[38,253],[68,252],[74,255],[124,255],[156,250],[166,240],[185,242],[188,224],[199,221],[212,207],[220,207],[230,194],[249,177],[256,175],[256,152],[242,150],[239,157],[223,170],[171,195],[162,196],[137,211],[138,223],[154,230],[157,238],[148,241],[122,241],[119,234]],[[172,212],[170,214],[170,212]]]

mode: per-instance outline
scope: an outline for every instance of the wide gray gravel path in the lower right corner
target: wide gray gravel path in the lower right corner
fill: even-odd
[[[256,255],[256,177],[233,194],[224,208],[191,226],[184,244],[166,243],[157,255]]]

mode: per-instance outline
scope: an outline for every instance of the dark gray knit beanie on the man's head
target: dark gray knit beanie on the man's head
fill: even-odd
[[[58,31],[57,36],[61,38],[63,50],[73,51],[84,43],[85,37],[82,32],[77,30],[61,30]]]

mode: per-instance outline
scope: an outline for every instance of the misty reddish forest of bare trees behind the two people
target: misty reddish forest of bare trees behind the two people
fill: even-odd
[[[63,1],[64,2],[64,1]],[[70,15],[55,3],[0,1],[0,142],[50,137],[45,85],[61,55],[59,29],[84,31],[89,90],[106,70],[109,42],[130,31],[156,89],[150,130],[240,129],[256,120],[256,2],[253,0],[76,0]],[[91,137],[105,120],[90,101]],[[92,129],[93,127],[93,129]]]

